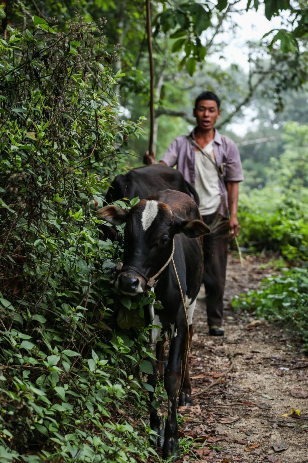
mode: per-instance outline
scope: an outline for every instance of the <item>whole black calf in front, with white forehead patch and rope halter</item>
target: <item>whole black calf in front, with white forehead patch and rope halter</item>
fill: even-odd
[[[164,386],[168,394],[168,417],[163,434],[162,418],[157,410],[150,413],[151,429],[161,436],[163,457],[179,454],[176,400],[180,393],[181,405],[191,402],[191,384],[188,365],[182,372],[187,342],[187,325],[175,272],[169,263],[163,272],[155,276],[164,264],[173,259],[186,299],[190,334],[192,334],[193,311],[203,273],[202,235],[209,228],[200,220],[196,203],[185,193],[164,190],[141,200],[130,210],[117,206],[105,206],[98,211],[100,219],[113,225],[126,222],[124,232],[123,266],[115,285],[124,294],[143,293],[147,288],[155,292],[163,310],[149,307],[148,319],[153,325],[162,325],[162,330],[152,329],[151,344],[167,333],[169,338],[169,360],[164,372]],[[195,238],[195,239],[190,239]],[[191,336],[190,336],[191,338]],[[148,382],[155,388],[157,366],[153,361],[154,374]],[[181,386],[181,377],[183,387]],[[150,400],[154,397],[150,393]]]

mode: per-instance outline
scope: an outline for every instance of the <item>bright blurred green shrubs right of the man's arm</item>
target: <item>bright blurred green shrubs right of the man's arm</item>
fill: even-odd
[[[240,243],[253,250],[279,251],[289,260],[308,260],[308,126],[285,125],[285,150],[272,158],[268,183],[240,195]]]

